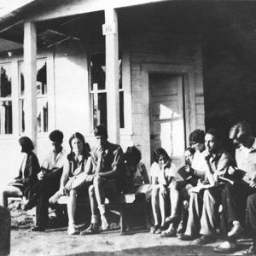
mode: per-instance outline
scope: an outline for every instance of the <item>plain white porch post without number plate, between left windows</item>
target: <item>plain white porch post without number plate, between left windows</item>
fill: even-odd
[[[37,32],[33,22],[24,24],[25,132],[37,145]]]

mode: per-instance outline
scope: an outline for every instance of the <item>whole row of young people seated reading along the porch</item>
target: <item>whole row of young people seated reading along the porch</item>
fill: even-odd
[[[97,147],[90,150],[76,132],[69,139],[70,152],[62,148],[63,133],[52,131],[53,150],[39,166],[28,137],[19,140],[24,158],[19,176],[1,192],[0,204],[8,207],[9,196],[25,196],[24,210],[36,207],[36,226],[48,225],[48,207],[61,195],[68,195],[69,235],[88,235],[108,230],[105,198],[120,193],[144,193],[151,198],[154,225],[150,233],[161,237],[178,236],[197,245],[216,241],[218,230],[224,236],[214,250],[228,253],[236,249],[243,230],[253,236],[247,253],[256,253],[256,140],[246,122],[230,129],[236,146],[233,160],[221,143],[217,130],[195,130],[189,135],[185,163],[175,166],[164,148],[155,148],[149,177],[136,147],[122,148],[108,142],[108,131],[99,125],[94,131]],[[77,195],[87,189],[91,221],[85,230],[75,225]],[[167,206],[170,207],[167,207]],[[221,211],[220,211],[221,210]],[[170,214],[167,212],[170,211]]]

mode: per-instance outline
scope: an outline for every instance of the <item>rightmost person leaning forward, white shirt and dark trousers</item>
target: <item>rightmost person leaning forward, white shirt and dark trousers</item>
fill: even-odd
[[[238,169],[234,169],[234,183],[227,183],[224,188],[221,231],[225,241],[215,247],[214,251],[230,253],[236,249],[236,238],[241,234],[246,218],[247,229],[253,235],[253,246],[247,253],[256,253],[256,138],[253,137],[250,126],[243,121],[231,127],[230,139],[236,146]],[[236,173],[239,174],[238,177]]]

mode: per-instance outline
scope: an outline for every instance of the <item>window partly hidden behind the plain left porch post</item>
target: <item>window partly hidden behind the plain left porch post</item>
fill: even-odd
[[[24,112],[24,63],[19,61],[19,84],[20,84],[20,132],[25,131]],[[37,119],[38,132],[48,131],[48,96],[47,96],[47,62],[46,58],[37,61]]]

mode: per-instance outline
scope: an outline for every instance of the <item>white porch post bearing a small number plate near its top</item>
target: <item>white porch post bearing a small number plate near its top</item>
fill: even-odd
[[[102,29],[106,36],[108,137],[112,143],[119,143],[119,36],[115,9],[105,9],[105,24]]]

